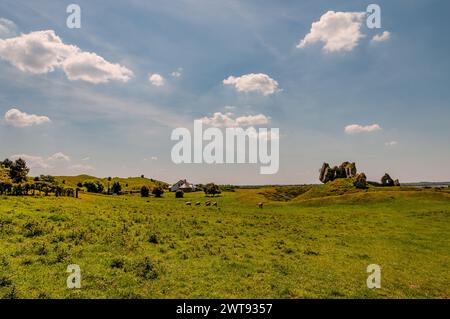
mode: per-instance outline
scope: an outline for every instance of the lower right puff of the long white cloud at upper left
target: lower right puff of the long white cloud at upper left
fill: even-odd
[[[80,52],[69,56],[63,62],[63,70],[71,81],[83,80],[90,83],[106,83],[110,80],[127,82],[133,72],[120,64],[106,61],[90,52]]]

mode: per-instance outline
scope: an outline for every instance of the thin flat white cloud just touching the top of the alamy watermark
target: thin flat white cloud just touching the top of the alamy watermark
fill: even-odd
[[[233,113],[216,112],[212,117],[201,118],[201,121],[214,127],[241,127],[267,124],[269,117],[264,114],[235,117]]]

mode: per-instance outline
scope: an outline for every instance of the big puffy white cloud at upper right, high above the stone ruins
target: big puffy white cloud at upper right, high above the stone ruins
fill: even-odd
[[[351,51],[364,35],[361,33],[364,12],[328,11],[313,22],[311,31],[300,41],[297,48],[317,42],[324,43],[326,52]]]

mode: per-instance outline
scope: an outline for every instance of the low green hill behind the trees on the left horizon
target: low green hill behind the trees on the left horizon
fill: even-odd
[[[55,176],[55,179],[60,183],[63,183],[64,181],[65,185],[71,187],[77,187],[78,183],[83,184],[86,181],[100,181],[103,185],[105,186],[108,185],[108,178],[99,178],[85,174],[78,176]],[[150,188],[153,188],[156,185],[163,185],[163,186],[167,185],[167,183],[162,181],[142,177],[127,177],[127,178],[112,177],[109,183],[112,185],[114,182],[119,182],[124,191],[140,190],[141,187],[144,185]],[[128,185],[128,187],[126,185]]]

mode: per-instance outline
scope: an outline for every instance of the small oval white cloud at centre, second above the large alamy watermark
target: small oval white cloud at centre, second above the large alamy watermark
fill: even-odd
[[[229,76],[223,80],[224,85],[231,85],[238,92],[258,92],[264,96],[279,91],[278,82],[263,73],[250,73],[240,77]]]

